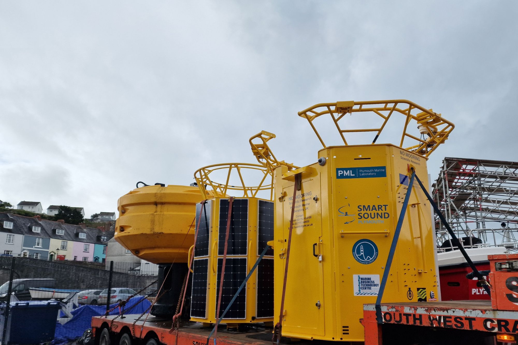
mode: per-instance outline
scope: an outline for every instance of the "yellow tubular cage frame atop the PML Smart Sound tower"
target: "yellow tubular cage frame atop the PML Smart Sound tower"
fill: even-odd
[[[401,107],[401,105],[403,107]],[[383,119],[383,123],[379,128],[342,129],[338,122],[346,116],[346,114],[352,114],[354,112],[373,112]],[[383,112],[386,114],[383,114]],[[313,125],[314,119],[324,114],[330,114],[346,146],[349,144],[347,143],[344,133],[377,132],[375,138],[372,140],[372,144],[374,144],[394,112],[406,116],[399,147],[404,148],[403,142],[405,138],[414,139],[416,143],[404,149],[425,157],[428,157],[441,143],[447,140],[449,134],[455,127],[452,122],[443,119],[441,114],[434,112],[432,109],[425,109],[407,99],[366,100],[361,102],[349,100],[335,103],[320,103],[303,111],[299,111],[298,116],[308,120],[311,128],[313,128],[313,131],[322,143],[322,146],[326,148],[327,146],[324,140],[322,140],[322,137]],[[412,114],[412,112],[414,112],[414,114]],[[408,124],[412,120],[417,122],[418,131],[423,134],[423,138],[416,137],[407,132]],[[425,134],[427,138],[425,138]]]

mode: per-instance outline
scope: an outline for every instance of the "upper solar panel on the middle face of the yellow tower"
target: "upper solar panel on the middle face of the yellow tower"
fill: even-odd
[[[220,199],[220,227],[218,255],[223,255],[228,217],[228,199]],[[248,251],[248,199],[234,199],[228,236],[227,255],[247,255]]]

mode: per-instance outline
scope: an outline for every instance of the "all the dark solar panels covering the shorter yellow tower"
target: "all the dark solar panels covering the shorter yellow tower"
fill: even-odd
[[[220,293],[221,269],[223,264],[223,252],[225,246],[226,225],[228,217],[229,199],[219,200],[219,228],[218,228],[218,257],[217,257],[217,284],[216,296]],[[202,209],[203,207],[203,209]],[[211,209],[214,205],[209,200],[205,205],[196,205],[196,248],[194,250],[193,282],[191,296],[191,317],[207,319],[208,303],[208,270],[209,260],[216,260],[209,256]],[[257,224],[257,255],[260,255],[267,242],[274,238],[274,203],[267,200],[258,200],[258,224]],[[200,216],[200,211],[202,211]],[[228,237],[227,258],[225,264],[225,276],[223,278],[223,291],[221,295],[220,315],[228,303],[234,297],[239,286],[248,274],[248,257],[255,260],[254,253],[248,253],[248,232],[249,232],[249,200],[236,198],[233,200],[231,222]],[[214,255],[211,254],[211,256]],[[257,267],[256,282],[256,318],[271,318],[274,316],[274,260],[271,256],[273,250],[270,248],[266,256]],[[241,256],[241,257],[236,257]],[[203,257],[203,258],[202,258]],[[210,302],[212,303],[212,301]],[[214,309],[217,308],[218,298],[214,301]],[[218,318],[220,315],[217,315]],[[231,308],[225,315],[225,319],[246,319],[247,317],[247,289],[243,289]]]

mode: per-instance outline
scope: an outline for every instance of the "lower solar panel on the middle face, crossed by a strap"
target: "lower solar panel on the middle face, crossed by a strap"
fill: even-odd
[[[220,293],[221,268],[223,266],[223,258],[218,258],[218,282],[216,284],[216,300],[215,309],[218,309],[218,296]],[[225,263],[225,276],[223,277],[223,294],[221,295],[221,316],[232,297],[236,294],[239,286],[247,277],[247,258],[245,257],[227,257]],[[236,300],[225,314],[225,319],[245,319],[247,315],[247,289],[241,290]]]

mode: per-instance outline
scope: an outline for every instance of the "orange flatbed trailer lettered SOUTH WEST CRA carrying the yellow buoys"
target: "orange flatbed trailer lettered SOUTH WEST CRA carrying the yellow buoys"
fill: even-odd
[[[495,345],[518,339],[518,254],[488,255],[491,300],[423,301],[364,305],[365,345]],[[347,306],[343,306],[347,310]],[[95,343],[100,345],[207,345],[212,327],[187,323],[172,330],[172,320],[140,315],[93,317]],[[218,345],[271,344],[271,327],[251,332],[218,328]],[[104,338],[103,338],[104,337]],[[212,338],[211,338],[212,341]],[[283,343],[290,339],[282,338]],[[302,344],[335,341],[299,340]]]

